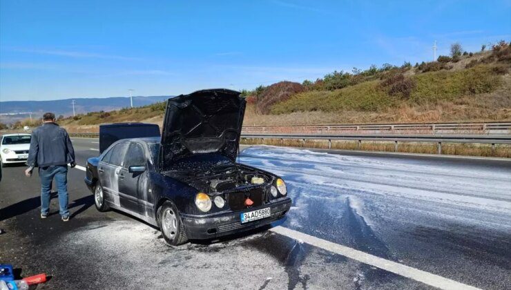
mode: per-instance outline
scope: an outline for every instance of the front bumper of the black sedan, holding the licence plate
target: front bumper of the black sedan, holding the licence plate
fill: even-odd
[[[257,209],[270,208],[271,215],[262,220],[255,220],[242,224],[240,214],[247,211],[255,211]],[[235,213],[222,213],[206,216],[197,215],[181,215],[181,220],[184,224],[186,235],[192,240],[206,240],[211,238],[218,238],[224,235],[231,235],[233,233],[240,233],[242,231],[249,231],[256,229],[260,226],[271,224],[276,220],[284,218],[285,214],[291,208],[291,198],[285,197],[283,200],[264,204],[253,209],[235,212]]]

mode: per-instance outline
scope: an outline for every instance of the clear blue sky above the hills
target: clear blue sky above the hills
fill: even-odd
[[[511,0],[0,0],[0,101],[250,89],[500,39]]]

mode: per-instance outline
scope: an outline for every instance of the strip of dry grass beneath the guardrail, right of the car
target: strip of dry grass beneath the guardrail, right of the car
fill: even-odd
[[[327,149],[329,144],[327,140],[291,140],[291,139],[242,139],[242,144],[253,145],[272,145],[272,146],[289,146],[304,148],[323,148]],[[357,141],[332,141],[332,149],[341,150],[362,150],[362,151],[379,151],[379,152],[395,152],[394,142],[362,142],[359,146]],[[431,143],[399,143],[398,151],[401,153],[425,153],[436,154],[436,144]],[[463,155],[463,156],[481,156],[481,157],[503,157],[511,158],[511,146],[505,144],[496,144],[494,150],[490,144],[442,144],[442,154],[446,155]]]

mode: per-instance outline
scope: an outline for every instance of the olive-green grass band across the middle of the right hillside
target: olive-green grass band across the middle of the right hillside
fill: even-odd
[[[459,97],[491,93],[503,84],[492,67],[476,66],[465,70],[425,72],[409,79],[414,84],[408,97],[391,95],[380,80],[365,81],[338,90],[311,90],[293,95],[275,104],[273,114],[298,111],[343,112],[344,110],[377,111],[402,104],[428,104],[454,101]]]

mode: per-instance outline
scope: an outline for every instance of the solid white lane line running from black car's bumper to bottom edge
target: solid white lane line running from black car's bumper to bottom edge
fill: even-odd
[[[376,257],[376,255],[371,255],[363,251],[358,251],[356,249],[351,249],[349,247],[336,244],[334,242],[322,240],[312,235],[307,235],[306,233],[293,231],[292,229],[287,229],[282,226],[276,226],[273,229],[270,229],[270,231],[279,233],[280,235],[286,235],[287,237],[293,238],[295,240],[301,240],[307,244],[311,244],[314,247],[343,255],[347,258],[357,260],[358,262],[363,262],[364,264],[369,264],[371,266],[416,280],[418,282],[423,282],[424,284],[428,284],[439,289],[479,289],[448,278],[443,278],[442,276],[428,273],[426,271],[415,269],[404,264],[399,264],[390,260]]]

